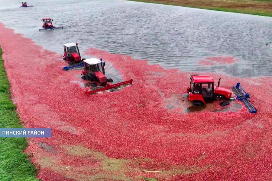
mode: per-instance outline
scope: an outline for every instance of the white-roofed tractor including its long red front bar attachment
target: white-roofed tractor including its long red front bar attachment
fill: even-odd
[[[105,76],[105,68],[104,68],[105,62],[102,62],[102,59],[100,60],[96,58],[85,59],[83,60],[83,63],[84,63],[84,69],[82,73],[84,76],[82,77],[82,79],[91,81],[92,87],[105,86],[100,89],[86,91],[86,94],[93,94],[96,92],[112,89],[115,87],[120,87],[121,85],[125,85],[125,84],[132,84],[132,79],[129,81],[124,81],[117,84],[111,84],[113,80],[111,78],[107,79],[107,77]]]

